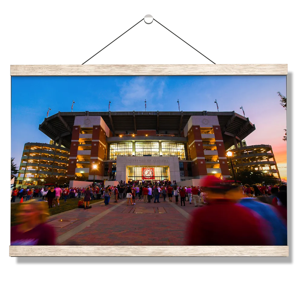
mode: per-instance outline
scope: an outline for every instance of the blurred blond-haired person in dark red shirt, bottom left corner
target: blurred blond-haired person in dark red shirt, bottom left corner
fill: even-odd
[[[18,225],[11,227],[11,245],[55,245],[55,231],[45,224],[46,203],[31,201],[20,204]]]

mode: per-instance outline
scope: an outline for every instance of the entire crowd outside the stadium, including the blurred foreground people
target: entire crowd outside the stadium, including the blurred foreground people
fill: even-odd
[[[78,198],[83,209],[92,207],[91,200],[101,198],[105,205],[111,198],[114,203],[127,199],[127,205],[136,205],[138,201],[160,203],[159,198],[178,204],[180,197],[181,206],[185,201],[202,206],[191,212],[188,245],[287,245],[286,185],[238,186],[207,176],[201,186],[177,186],[175,181],[121,181],[117,186],[99,186],[14,188],[12,201],[26,197],[27,202],[18,213],[19,225],[12,227],[11,245],[54,245],[53,231],[44,224],[47,204],[30,201],[34,197],[48,201],[48,208],[59,206],[60,200]],[[29,239],[36,242],[28,244]]]

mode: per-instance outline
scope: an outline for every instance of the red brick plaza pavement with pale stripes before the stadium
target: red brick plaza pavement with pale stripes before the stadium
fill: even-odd
[[[48,218],[54,226],[58,245],[187,245],[186,230],[191,213],[198,209],[185,202],[128,205],[126,199],[110,204],[92,204],[92,208],[77,208]]]

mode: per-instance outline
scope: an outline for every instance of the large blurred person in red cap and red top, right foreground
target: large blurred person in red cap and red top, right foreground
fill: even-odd
[[[208,205],[193,212],[188,245],[274,245],[266,221],[236,203],[243,198],[241,189],[215,176],[205,177],[203,183]]]

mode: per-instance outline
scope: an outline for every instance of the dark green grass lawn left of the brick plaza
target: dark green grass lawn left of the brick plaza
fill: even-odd
[[[64,211],[78,208],[78,201],[78,198],[67,199],[66,202],[64,202],[64,200],[59,200],[60,206],[58,207],[58,205],[56,204],[56,207],[49,208],[49,215],[52,216]],[[91,200],[89,201],[89,204],[91,205],[100,201],[104,201],[104,199]],[[45,205],[48,207],[47,201],[41,201],[41,203],[45,203]],[[16,214],[18,212],[19,205],[19,203],[11,204],[11,226],[18,224],[18,222],[16,221]]]

